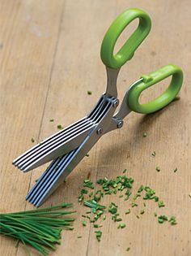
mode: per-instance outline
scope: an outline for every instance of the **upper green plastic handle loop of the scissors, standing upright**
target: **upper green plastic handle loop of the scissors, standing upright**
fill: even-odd
[[[129,37],[117,54],[113,55],[117,38],[126,26],[133,20],[139,19],[138,28]],[[151,30],[151,19],[145,11],[129,9],[117,17],[108,28],[102,41],[100,57],[107,67],[119,68],[134,56],[134,51],[142,43]]]

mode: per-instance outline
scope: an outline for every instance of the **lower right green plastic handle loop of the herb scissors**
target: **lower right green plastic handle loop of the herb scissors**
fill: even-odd
[[[145,104],[140,104],[138,102],[138,98],[144,89],[155,85],[168,76],[172,76],[172,80],[166,91],[151,102],[147,102]],[[159,70],[151,72],[148,75],[143,75],[141,78],[142,81],[137,84],[135,83],[130,87],[127,97],[127,104],[132,111],[142,114],[150,114],[155,111],[159,111],[164,106],[167,106],[176,97],[182,85],[183,72],[180,67],[170,64],[161,67]]]

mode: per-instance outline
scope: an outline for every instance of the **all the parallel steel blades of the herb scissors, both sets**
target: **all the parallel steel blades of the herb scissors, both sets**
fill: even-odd
[[[98,128],[99,124],[103,123],[105,115],[109,112],[113,114],[115,106],[117,104],[114,98],[108,100],[103,95],[90,115],[57,132],[14,160],[15,167],[26,172],[54,159],[28,193],[26,199],[29,202],[40,206],[59,184],[62,184],[70,171],[100,138],[103,130]]]

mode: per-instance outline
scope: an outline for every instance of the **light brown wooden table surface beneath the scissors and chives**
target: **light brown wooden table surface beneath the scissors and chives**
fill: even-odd
[[[121,11],[139,7],[151,15],[153,25],[134,59],[121,70],[119,98],[140,75],[175,63],[185,73],[180,101],[153,115],[129,115],[124,127],[105,135],[66,184],[49,197],[43,206],[74,202],[78,211],[74,231],[62,233],[62,245],[51,255],[191,255],[190,1],[2,0],[0,5],[1,212],[33,208],[24,198],[45,166],[23,174],[11,165],[12,160],[32,146],[32,137],[36,142],[42,140],[57,132],[57,124],[74,122],[96,104],[105,89],[100,61],[104,33]],[[122,39],[128,35],[125,32]],[[168,81],[147,90],[142,100],[161,93]],[[87,95],[87,90],[92,95]],[[154,150],[156,156],[152,158]],[[129,202],[118,196],[104,197],[103,204],[117,202],[127,227],[117,229],[108,215],[99,243],[92,225],[82,226],[81,215],[87,210],[78,202],[83,179],[88,173],[92,181],[112,178],[125,168],[127,175],[134,177],[134,193],[140,184],[147,184],[166,206],[146,202],[145,214],[137,219],[142,199],[138,198],[140,207],[134,207],[127,216],[124,212]],[[177,225],[159,224],[155,211],[176,215]],[[1,252],[3,256],[26,254],[22,245],[16,249],[15,241],[4,237]]]

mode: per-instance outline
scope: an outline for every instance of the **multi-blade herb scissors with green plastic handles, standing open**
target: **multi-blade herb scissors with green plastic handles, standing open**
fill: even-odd
[[[117,38],[126,26],[138,19],[138,28],[132,33],[125,44],[113,54]],[[22,171],[30,171],[51,160],[49,167],[40,176],[26,199],[35,206],[40,206],[66,176],[83,159],[96,141],[105,133],[123,126],[123,119],[131,111],[149,114],[167,106],[179,93],[183,81],[180,67],[167,65],[155,72],[141,76],[125,93],[119,110],[117,99],[117,76],[121,67],[134,56],[134,51],[146,38],[151,30],[151,19],[145,11],[129,9],[117,17],[108,28],[102,41],[100,57],[106,66],[107,88],[89,115],[79,119],[74,124],[53,134],[53,136],[35,145],[13,164]],[[144,89],[157,84],[160,80],[172,76],[168,89],[151,102],[140,104],[138,98]]]

